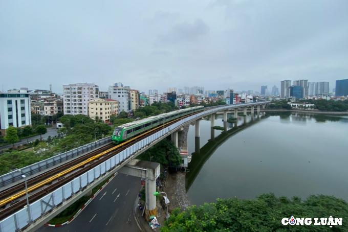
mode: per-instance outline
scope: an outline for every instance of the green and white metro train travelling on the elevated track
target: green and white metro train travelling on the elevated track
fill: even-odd
[[[182,118],[187,114],[202,111],[203,109],[203,106],[195,106],[171,111],[169,113],[162,113],[139,121],[123,124],[115,128],[112,140],[119,144],[154,127],[163,125],[164,123],[175,119]]]

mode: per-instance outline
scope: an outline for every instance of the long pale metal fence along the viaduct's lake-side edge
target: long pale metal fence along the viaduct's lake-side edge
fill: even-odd
[[[148,137],[143,138],[141,141],[126,148],[125,150],[114,155],[113,157],[107,159],[106,161],[96,166],[95,168],[91,169],[90,171],[85,172],[84,174],[73,179],[72,181],[68,182],[62,187],[56,189],[52,193],[31,203],[29,211],[27,210],[27,207],[25,207],[22,210],[3,219],[0,222],[0,232],[12,232],[12,231],[15,232],[26,227],[30,223],[30,221],[35,221],[36,219],[40,218],[42,215],[51,211],[53,208],[59,206],[62,202],[69,199],[74,194],[84,190],[85,187],[87,187],[90,183],[96,181],[99,178],[102,178],[101,176],[105,172],[110,171],[114,168],[117,168],[117,166],[121,164],[125,159],[141,151],[145,147],[149,146],[151,143],[157,140],[160,140],[165,136],[168,136],[168,134],[170,134],[172,131],[177,130],[184,124],[189,123],[190,121],[197,120],[199,118],[204,117],[205,115],[215,113],[221,110],[252,106],[252,105],[260,105],[265,103],[268,103],[268,102],[258,103],[258,104],[246,103],[246,104],[240,104],[240,105],[228,105],[228,106],[216,107],[216,108],[208,109],[203,112],[197,113],[195,115],[189,116],[176,123],[173,123],[172,125],[165,127],[162,130],[149,135]]]

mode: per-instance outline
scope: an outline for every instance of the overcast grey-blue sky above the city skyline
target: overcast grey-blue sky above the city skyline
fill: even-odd
[[[346,0],[0,0],[0,87],[332,89],[348,78],[347,12]]]

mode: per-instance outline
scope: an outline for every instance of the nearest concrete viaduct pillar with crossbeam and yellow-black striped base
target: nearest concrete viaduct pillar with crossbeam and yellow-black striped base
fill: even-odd
[[[156,179],[160,176],[159,163],[143,161],[139,159],[133,159],[123,168],[120,169],[120,173],[137,176],[146,179],[145,184],[145,219],[148,221],[150,216],[157,217],[156,207]]]

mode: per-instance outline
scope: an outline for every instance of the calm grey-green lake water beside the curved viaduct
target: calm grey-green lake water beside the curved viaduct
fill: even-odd
[[[238,127],[243,124],[244,117],[238,117]],[[222,115],[215,125],[223,126]],[[225,141],[192,155],[186,175],[192,204],[218,197],[251,199],[269,192],[303,199],[334,195],[348,201],[348,117],[269,112],[259,120],[248,115],[244,125],[230,135],[215,130],[215,138]],[[202,120],[200,130],[203,149],[210,138],[210,121]],[[194,144],[190,126],[190,153]]]

